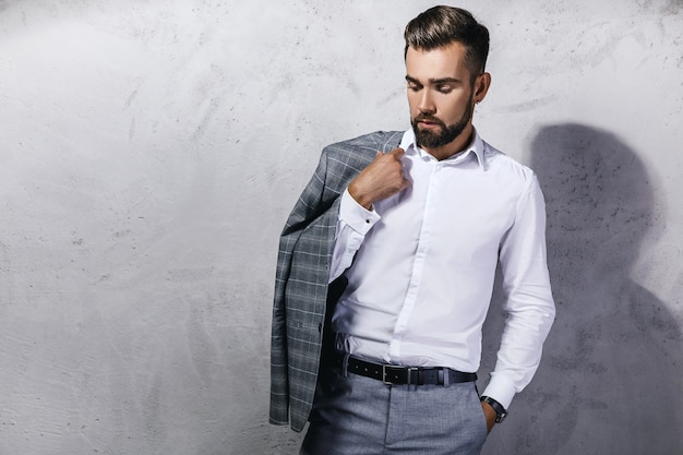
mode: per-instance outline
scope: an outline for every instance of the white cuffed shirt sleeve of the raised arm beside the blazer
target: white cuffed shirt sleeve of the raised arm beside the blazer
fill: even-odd
[[[348,189],[344,191],[329,265],[329,283],[339,277],[351,265],[366,235],[379,220],[380,215],[374,211],[374,207],[371,211],[366,209],[356,202]]]

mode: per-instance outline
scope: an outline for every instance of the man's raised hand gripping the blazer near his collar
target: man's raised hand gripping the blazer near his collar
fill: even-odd
[[[366,209],[372,204],[392,196],[410,185],[406,179],[400,158],[406,152],[394,148],[390,153],[378,152],[374,160],[349,184],[349,194]]]

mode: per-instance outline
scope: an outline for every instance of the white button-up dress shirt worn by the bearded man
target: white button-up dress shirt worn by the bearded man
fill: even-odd
[[[476,372],[500,260],[508,318],[483,395],[504,407],[538,368],[554,319],[536,175],[483,142],[436,160],[404,133],[411,185],[373,204],[342,196],[331,282],[337,348],[373,361]]]

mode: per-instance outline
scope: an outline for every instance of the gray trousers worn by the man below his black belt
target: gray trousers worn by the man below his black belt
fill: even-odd
[[[300,455],[477,455],[486,439],[474,382],[387,385],[325,367]]]

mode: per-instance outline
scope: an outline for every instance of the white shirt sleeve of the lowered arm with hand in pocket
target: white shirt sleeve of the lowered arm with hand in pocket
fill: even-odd
[[[531,381],[554,321],[546,258],[546,204],[538,179],[532,175],[500,250],[507,319],[498,361],[483,395],[505,408]]]

